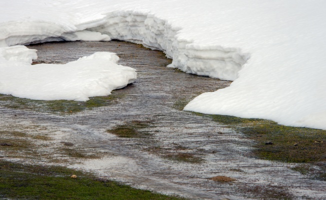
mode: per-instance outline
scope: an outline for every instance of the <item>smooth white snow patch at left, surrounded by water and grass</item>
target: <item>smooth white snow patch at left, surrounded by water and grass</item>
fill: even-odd
[[[17,56],[18,55],[18,56]],[[108,95],[136,79],[135,69],[116,64],[118,56],[96,52],[66,64],[35,64],[25,46],[0,48],[0,93],[39,100],[88,100]]]

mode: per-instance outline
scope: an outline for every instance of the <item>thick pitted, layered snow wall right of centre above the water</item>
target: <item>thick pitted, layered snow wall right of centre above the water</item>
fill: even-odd
[[[181,38],[178,35],[180,27],[174,27],[167,20],[151,13],[120,10],[105,15],[100,25],[96,24],[88,30],[107,34],[112,39],[141,43],[162,50],[167,57],[173,58],[169,67],[179,68],[186,73],[234,80],[248,59],[248,54],[241,53],[239,48],[199,45],[190,39]]]

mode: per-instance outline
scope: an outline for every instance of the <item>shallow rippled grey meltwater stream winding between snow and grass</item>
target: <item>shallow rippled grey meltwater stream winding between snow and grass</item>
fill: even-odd
[[[123,97],[108,106],[73,114],[0,107],[2,127],[41,125],[57,141],[106,153],[100,159],[71,161],[71,167],[135,187],[192,198],[326,199],[324,182],[303,177],[289,169],[291,164],[253,158],[252,141],[242,134],[208,117],[179,110],[199,93],[226,87],[230,81],[167,68],[171,60],[162,52],[128,42],[58,42],[28,47],[38,50],[35,62],[65,63],[96,51],[110,51],[120,57],[119,64],[137,69],[137,80],[114,91]],[[134,122],[148,124],[140,132],[145,136],[125,138],[107,132]],[[186,155],[185,160],[182,155]],[[236,180],[208,179],[218,175]]]

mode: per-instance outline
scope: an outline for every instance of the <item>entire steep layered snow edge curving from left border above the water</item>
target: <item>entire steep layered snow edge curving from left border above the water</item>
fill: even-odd
[[[249,58],[248,53],[242,53],[239,48],[195,44],[191,39],[180,37],[180,29],[148,12],[119,10],[79,24],[43,20],[1,23],[0,46],[112,38],[162,50],[167,57],[173,58],[168,67],[186,73],[236,79],[237,72]]]

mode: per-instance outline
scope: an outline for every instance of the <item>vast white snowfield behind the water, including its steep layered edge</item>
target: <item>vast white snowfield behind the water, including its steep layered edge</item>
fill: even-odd
[[[170,67],[234,80],[228,88],[201,94],[186,110],[326,129],[325,5],[322,0],[3,1],[0,46],[109,37],[142,43],[173,58]],[[1,71],[1,87],[7,87],[2,81],[9,75]]]

